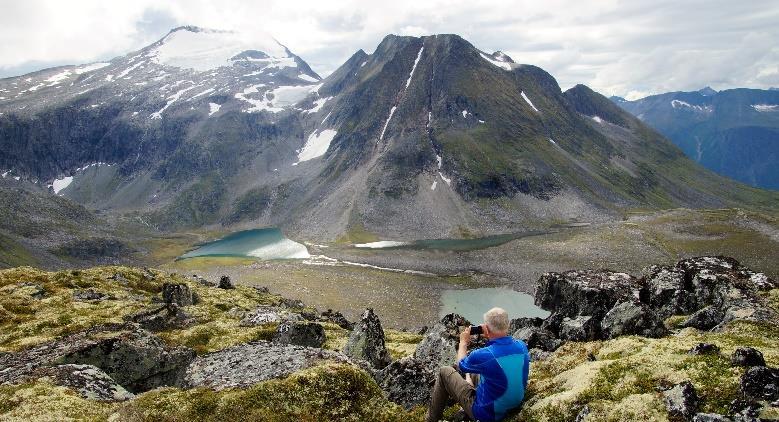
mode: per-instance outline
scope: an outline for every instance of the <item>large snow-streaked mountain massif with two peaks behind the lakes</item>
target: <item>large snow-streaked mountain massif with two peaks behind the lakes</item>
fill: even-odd
[[[181,27],[110,62],[0,80],[0,148],[3,189],[162,231],[461,237],[779,199],[457,35],[389,35],[321,79],[271,37]]]

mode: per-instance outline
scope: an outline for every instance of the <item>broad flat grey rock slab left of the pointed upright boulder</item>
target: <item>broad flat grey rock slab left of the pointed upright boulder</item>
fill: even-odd
[[[350,362],[330,350],[254,341],[197,357],[186,369],[185,385],[215,390],[249,387],[328,361]]]

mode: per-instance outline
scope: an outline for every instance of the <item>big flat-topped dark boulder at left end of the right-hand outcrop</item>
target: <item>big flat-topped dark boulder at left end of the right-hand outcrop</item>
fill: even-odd
[[[538,281],[535,303],[569,318],[602,316],[619,302],[637,300],[640,289],[639,280],[625,273],[606,270],[546,273]]]

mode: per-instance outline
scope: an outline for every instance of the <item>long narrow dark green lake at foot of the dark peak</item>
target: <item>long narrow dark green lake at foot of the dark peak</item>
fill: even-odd
[[[518,233],[496,234],[492,236],[477,237],[473,239],[425,239],[412,242],[396,242],[383,240],[371,243],[354,245],[356,248],[367,249],[414,249],[414,250],[443,250],[443,251],[474,251],[502,245],[512,240],[523,237],[548,234],[549,231],[527,231]]]

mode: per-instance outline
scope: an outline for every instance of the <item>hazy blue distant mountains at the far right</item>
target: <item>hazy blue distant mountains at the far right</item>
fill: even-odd
[[[779,91],[669,92],[623,109],[673,141],[688,157],[724,176],[779,190]]]

